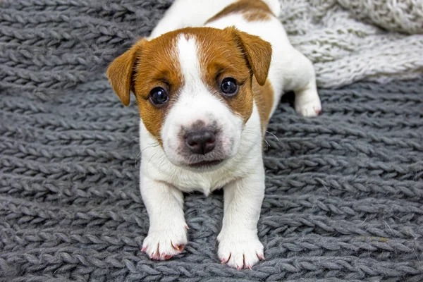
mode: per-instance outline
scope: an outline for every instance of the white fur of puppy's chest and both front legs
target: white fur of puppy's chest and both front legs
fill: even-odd
[[[166,158],[157,140],[140,122],[140,190],[149,214],[149,233],[143,247],[156,259],[177,255],[171,243],[186,243],[182,192],[200,190],[209,195],[224,187],[223,227],[218,236],[219,258],[228,265],[252,266],[263,256],[263,245],[257,238],[257,221],[264,196],[262,135],[257,106],[245,124],[240,148],[235,157],[214,171],[192,172],[175,166]],[[177,189],[176,189],[177,188]],[[159,254],[155,253],[159,250]],[[257,257],[257,255],[259,257]]]

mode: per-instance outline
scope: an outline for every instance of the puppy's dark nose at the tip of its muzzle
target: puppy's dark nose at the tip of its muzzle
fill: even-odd
[[[185,136],[185,144],[192,154],[207,154],[212,152],[216,141],[216,135],[211,130],[195,130]]]

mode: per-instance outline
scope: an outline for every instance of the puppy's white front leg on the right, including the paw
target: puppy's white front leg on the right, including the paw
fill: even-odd
[[[257,237],[257,221],[264,197],[262,159],[257,161],[257,171],[223,189],[223,226],[217,237],[219,258],[222,263],[237,269],[251,268],[259,259],[264,259],[263,245]]]

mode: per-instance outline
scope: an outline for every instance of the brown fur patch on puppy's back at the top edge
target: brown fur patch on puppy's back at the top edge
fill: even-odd
[[[271,12],[269,6],[266,3],[260,0],[239,0],[235,3],[226,6],[222,11],[217,13],[212,18],[209,18],[206,23],[210,23],[224,16],[231,15],[233,13],[242,13],[245,20],[259,21],[259,20],[269,20],[273,13]]]

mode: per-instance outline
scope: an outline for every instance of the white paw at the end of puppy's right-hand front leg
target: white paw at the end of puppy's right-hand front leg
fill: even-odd
[[[217,240],[219,241],[217,254],[222,264],[228,264],[238,270],[251,269],[260,259],[264,259],[263,245],[257,238],[257,233],[221,232]]]

